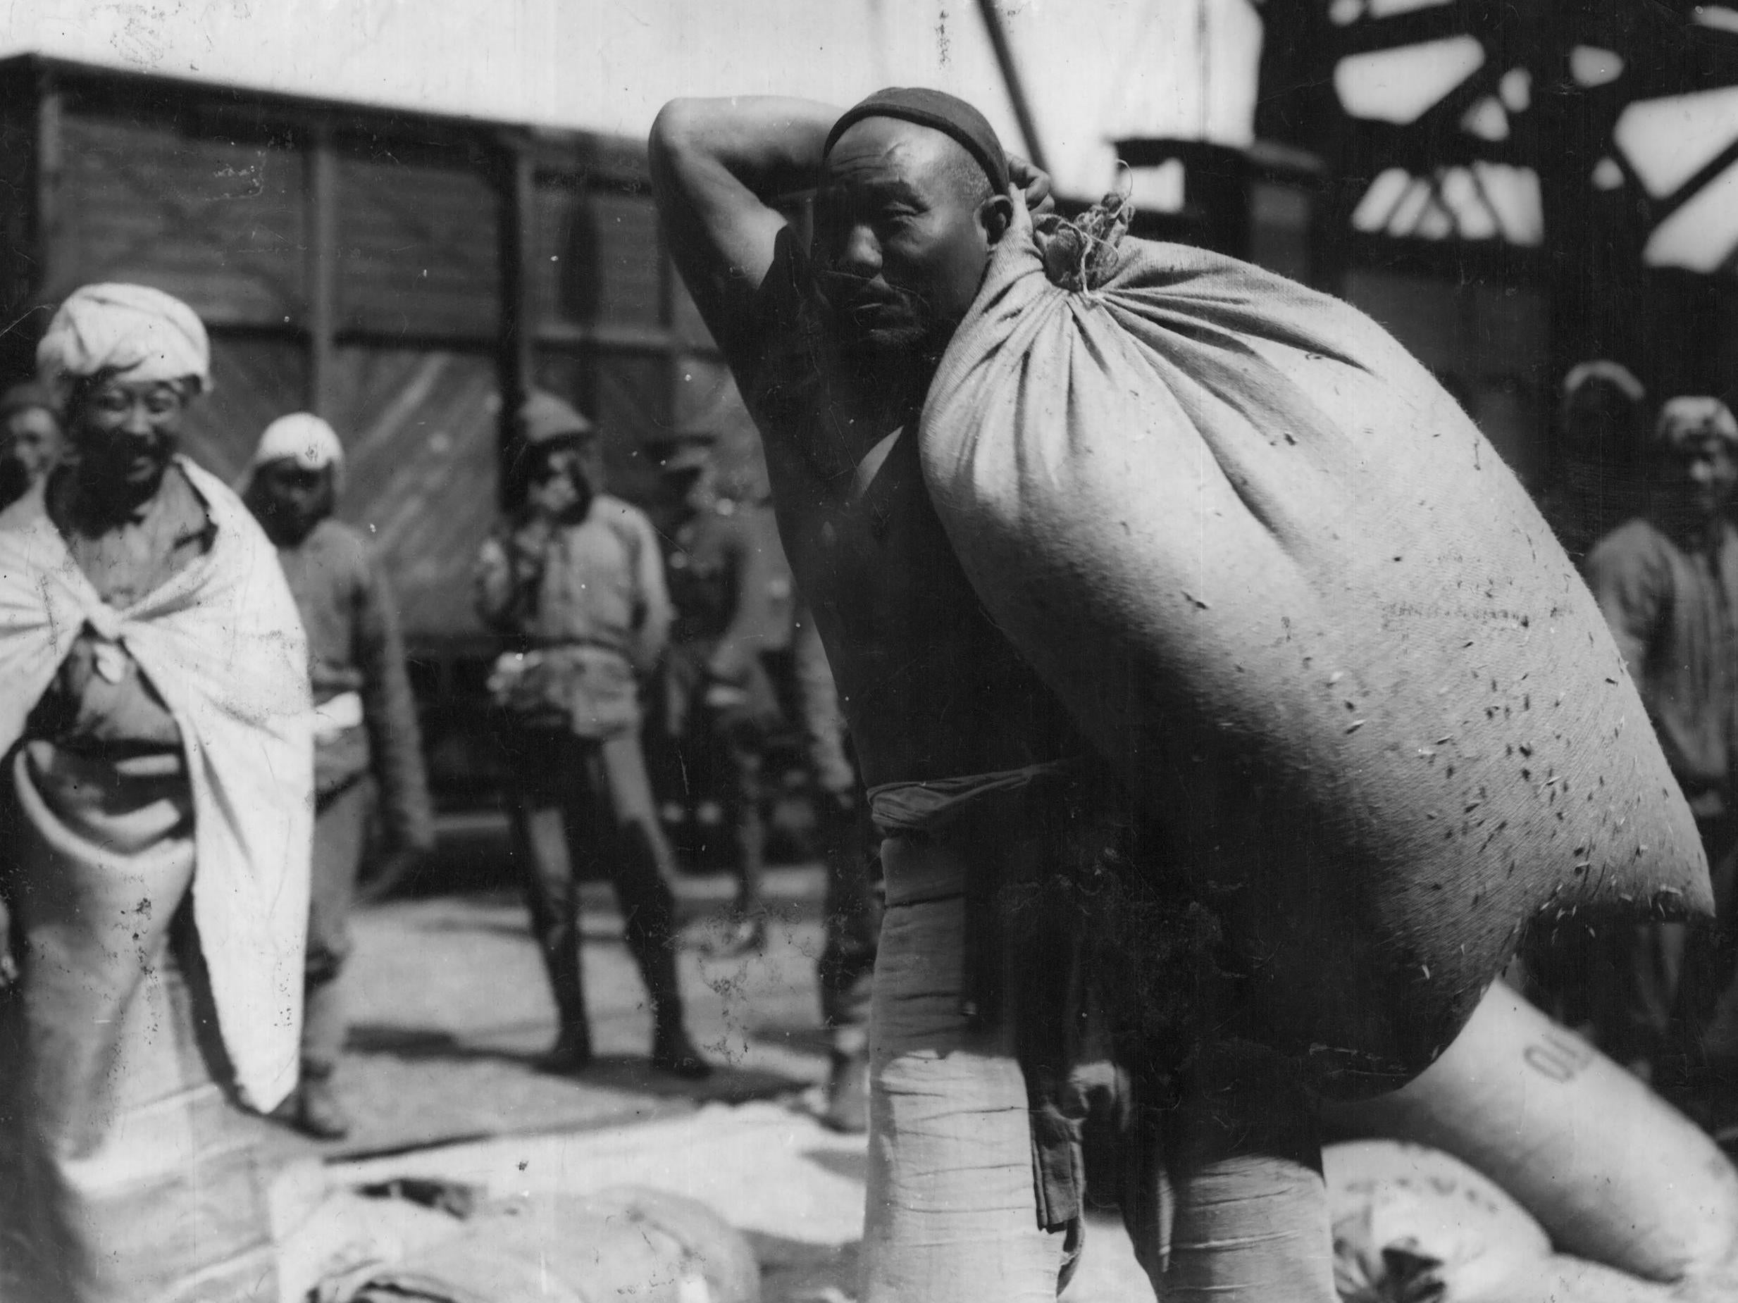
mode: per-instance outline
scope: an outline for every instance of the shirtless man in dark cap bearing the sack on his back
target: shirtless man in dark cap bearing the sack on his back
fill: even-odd
[[[916,457],[928,375],[1006,229],[1010,181],[1032,203],[1048,181],[1010,172],[970,106],[909,94],[895,108],[937,125],[864,115],[834,151],[885,214],[879,241],[826,268],[768,200],[813,184],[834,123],[850,125],[839,109],[678,101],[653,127],[653,177],[678,268],[765,438],[786,552],[885,836],[862,1298],[1051,1300],[1078,1173],[1065,1147],[1034,1155],[989,900],[1032,876],[1010,867],[1031,830],[1022,808],[1064,782],[1053,763],[1079,744],[984,617]],[[822,200],[815,217],[838,233],[860,214]]]

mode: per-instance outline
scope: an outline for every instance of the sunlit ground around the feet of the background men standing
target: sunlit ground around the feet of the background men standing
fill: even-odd
[[[554,1006],[525,907],[509,890],[396,900],[355,917],[348,1056],[337,1089],[355,1129],[327,1155],[365,1155],[502,1133],[643,1121],[706,1101],[791,1098],[826,1077],[813,966],[820,870],[775,870],[765,952],[680,956],[688,1023],[714,1063],[704,1082],[650,1070],[652,1016],[607,886],[586,888],[586,989],[598,1062],[574,1077],[535,1065]],[[728,898],[681,883],[688,938]]]

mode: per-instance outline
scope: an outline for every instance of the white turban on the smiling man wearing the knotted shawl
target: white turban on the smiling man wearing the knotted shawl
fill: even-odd
[[[36,346],[36,377],[64,403],[73,380],[118,372],[127,380],[210,382],[205,325],[181,299],[149,285],[85,285],[66,295]]]

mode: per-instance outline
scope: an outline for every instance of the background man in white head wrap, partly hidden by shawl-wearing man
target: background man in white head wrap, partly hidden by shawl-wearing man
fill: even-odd
[[[289,1117],[318,1140],[349,1133],[332,1075],[349,1030],[339,978],[351,950],[349,907],[372,817],[379,810],[395,858],[426,855],[434,841],[393,594],[362,533],[332,519],[342,466],[334,429],[295,412],[266,426],[245,493],[278,549],[308,629],[315,855],[302,1077]]]

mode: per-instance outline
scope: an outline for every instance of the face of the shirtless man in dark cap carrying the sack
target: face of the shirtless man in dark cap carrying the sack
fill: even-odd
[[[944,132],[864,118],[839,136],[815,195],[813,243],[839,344],[940,351],[977,297],[992,228],[1005,229],[994,198]]]

